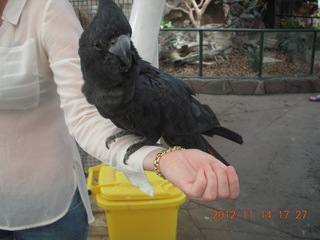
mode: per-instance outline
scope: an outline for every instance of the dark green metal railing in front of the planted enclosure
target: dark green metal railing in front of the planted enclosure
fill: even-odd
[[[313,33],[313,40],[312,40],[312,48],[311,48],[311,62],[310,62],[310,70],[308,74],[293,74],[292,76],[308,76],[308,75],[318,75],[319,73],[314,73],[314,62],[315,62],[315,52],[316,52],[316,40],[318,32],[320,29],[229,29],[229,28],[219,28],[219,29],[203,29],[203,28],[162,28],[160,31],[196,31],[199,34],[199,69],[198,75],[190,75],[190,76],[177,76],[180,78],[222,78],[226,76],[203,76],[203,35],[204,32],[213,32],[213,31],[220,31],[220,32],[257,32],[260,34],[260,41],[259,41],[259,66],[258,66],[258,78],[271,78],[271,77],[278,77],[278,76],[263,76],[263,54],[264,54],[264,35],[265,33],[270,32],[288,32],[288,33],[297,33],[297,32],[307,32]],[[290,75],[291,76],[291,75]],[[245,77],[245,78],[257,78],[257,77]],[[244,78],[243,76],[228,76],[228,78]]]

